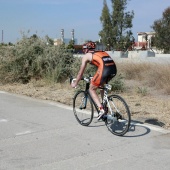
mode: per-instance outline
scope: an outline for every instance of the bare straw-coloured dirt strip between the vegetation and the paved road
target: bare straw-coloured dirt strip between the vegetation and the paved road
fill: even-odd
[[[53,85],[35,81],[28,84],[7,84],[0,85],[0,90],[67,105],[72,105],[72,98],[75,93],[75,90],[67,82]],[[163,95],[153,89],[147,95],[142,95],[137,93],[135,86],[131,87],[128,92],[120,93],[120,95],[130,107],[132,120],[170,129],[170,96]]]

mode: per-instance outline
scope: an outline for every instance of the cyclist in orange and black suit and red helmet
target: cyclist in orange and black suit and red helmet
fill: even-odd
[[[99,108],[98,120],[102,118],[105,114],[103,106],[100,102],[99,96],[96,93],[97,88],[103,87],[105,83],[108,83],[117,73],[117,68],[113,59],[105,51],[95,51],[96,44],[92,41],[83,45],[83,52],[85,55],[82,58],[82,63],[76,80],[71,84],[74,88],[77,86],[78,82],[81,80],[87,63],[93,64],[98,67],[95,75],[90,82],[89,92],[94,102]],[[101,91],[101,96],[103,98],[103,90]]]

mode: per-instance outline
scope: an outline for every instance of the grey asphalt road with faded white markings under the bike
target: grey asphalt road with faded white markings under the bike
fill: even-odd
[[[0,92],[0,170],[169,170],[169,159],[164,129],[133,122],[118,137],[68,106]]]

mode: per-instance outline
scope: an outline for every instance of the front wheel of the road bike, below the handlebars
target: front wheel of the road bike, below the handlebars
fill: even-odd
[[[88,126],[93,120],[93,104],[85,91],[78,91],[73,98],[73,112],[77,121]]]

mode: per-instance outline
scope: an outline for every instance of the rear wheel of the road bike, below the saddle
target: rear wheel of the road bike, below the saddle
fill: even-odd
[[[130,110],[125,100],[119,95],[108,97],[110,109],[105,124],[114,135],[123,136],[128,130],[131,122]]]

